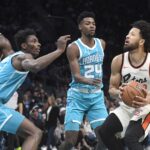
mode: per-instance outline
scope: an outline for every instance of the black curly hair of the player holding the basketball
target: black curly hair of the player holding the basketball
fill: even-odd
[[[145,20],[139,20],[134,22],[131,26],[140,30],[140,35],[145,40],[145,52],[150,52],[150,23]]]

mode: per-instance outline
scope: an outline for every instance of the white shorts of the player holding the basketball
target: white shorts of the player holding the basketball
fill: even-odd
[[[123,138],[125,136],[126,129],[131,120],[137,121],[142,118],[142,126],[145,130],[144,137],[141,137],[140,141],[142,141],[150,131],[150,104],[144,107],[135,109],[127,106],[123,102],[120,102],[120,106],[110,113],[114,113],[120,120],[123,131],[116,134],[117,137]]]

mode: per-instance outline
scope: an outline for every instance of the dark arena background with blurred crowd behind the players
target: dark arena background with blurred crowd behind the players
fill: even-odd
[[[33,28],[42,44],[40,52],[42,56],[56,49],[55,42],[59,36],[70,34],[70,42],[80,37],[76,19],[84,10],[95,13],[96,36],[106,41],[103,81],[105,104],[109,112],[119,105],[118,101],[112,100],[108,94],[111,61],[114,56],[123,52],[122,47],[130,24],[140,19],[150,21],[150,0],[1,0],[0,32],[11,41],[16,51],[14,34],[20,29]],[[64,53],[46,69],[37,74],[30,73],[17,91],[18,106],[23,106],[22,111],[18,107],[19,112],[43,130],[44,135],[39,146],[41,150],[43,146],[44,150],[47,141],[49,142],[48,131],[54,124],[55,127],[57,125],[57,134],[51,139],[57,139],[56,143],[53,143],[55,150],[64,141],[66,93],[70,81],[70,68]],[[58,107],[59,114],[51,113],[49,107]],[[88,135],[86,131],[86,136],[81,134],[83,137],[78,140],[76,149],[89,150],[85,149],[87,145],[93,148],[96,145],[93,132]],[[10,147],[14,149],[14,146],[21,146],[22,139],[19,139],[20,144],[16,145],[14,143],[18,142],[14,140],[13,143],[10,137],[6,135],[5,144],[3,142],[5,138],[0,135],[0,150],[3,146],[9,150]],[[85,139],[84,143],[82,139]],[[52,146],[52,143],[48,143],[49,145]]]

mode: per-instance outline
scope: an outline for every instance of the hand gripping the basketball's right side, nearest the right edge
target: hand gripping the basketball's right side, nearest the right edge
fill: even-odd
[[[142,92],[144,93],[145,98],[140,97],[140,96],[135,96],[132,107],[139,108],[150,103],[150,95],[147,96],[148,94],[147,90],[142,88]]]

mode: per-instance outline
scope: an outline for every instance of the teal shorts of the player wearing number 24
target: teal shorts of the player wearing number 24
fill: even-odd
[[[93,129],[104,122],[108,113],[103,92],[82,93],[70,88],[67,92],[65,130],[78,131],[84,115]]]

